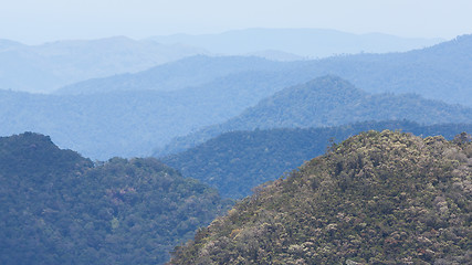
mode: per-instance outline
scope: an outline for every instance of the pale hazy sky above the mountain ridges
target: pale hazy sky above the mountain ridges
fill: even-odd
[[[0,0],[0,39],[316,28],[452,39],[472,33],[472,0]]]

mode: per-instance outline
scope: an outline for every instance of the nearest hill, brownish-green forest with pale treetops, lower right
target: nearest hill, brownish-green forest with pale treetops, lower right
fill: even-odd
[[[352,137],[260,187],[169,264],[470,264],[470,140]]]

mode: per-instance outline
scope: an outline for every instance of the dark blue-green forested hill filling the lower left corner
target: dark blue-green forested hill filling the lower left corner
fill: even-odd
[[[96,162],[49,137],[0,138],[0,263],[162,264],[231,204],[155,159]]]

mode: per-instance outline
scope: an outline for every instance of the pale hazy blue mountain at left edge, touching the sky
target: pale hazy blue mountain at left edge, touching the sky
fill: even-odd
[[[139,72],[201,53],[206,52],[124,36],[41,45],[1,40],[0,89],[49,93],[80,81]]]

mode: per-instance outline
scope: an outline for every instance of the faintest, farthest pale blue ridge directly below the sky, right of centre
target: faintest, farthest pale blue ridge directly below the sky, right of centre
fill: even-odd
[[[153,36],[159,43],[199,46],[217,54],[243,55],[280,51],[304,57],[335,54],[405,52],[441,42],[440,39],[407,39],[388,34],[352,34],[326,29],[245,29],[218,34]]]

